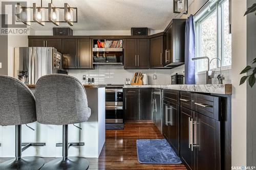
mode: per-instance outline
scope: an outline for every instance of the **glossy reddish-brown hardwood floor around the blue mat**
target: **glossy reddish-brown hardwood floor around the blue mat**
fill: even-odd
[[[89,169],[186,169],[183,164],[141,164],[136,139],[163,138],[153,123],[128,123],[124,130],[107,130],[100,157],[88,158]],[[46,158],[46,162],[54,158]],[[0,158],[0,162],[3,160]]]

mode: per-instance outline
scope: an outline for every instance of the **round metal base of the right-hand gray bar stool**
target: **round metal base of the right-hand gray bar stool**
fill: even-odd
[[[54,159],[44,166],[41,170],[86,170],[89,167],[89,162],[82,157],[68,157],[67,160],[62,158]]]

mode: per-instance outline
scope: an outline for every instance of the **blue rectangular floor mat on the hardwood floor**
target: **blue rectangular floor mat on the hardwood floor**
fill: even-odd
[[[180,158],[165,139],[138,139],[137,155],[140,163],[181,163]]]

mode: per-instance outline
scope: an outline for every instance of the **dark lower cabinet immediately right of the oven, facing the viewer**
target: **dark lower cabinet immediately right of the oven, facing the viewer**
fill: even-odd
[[[124,120],[153,120],[152,89],[127,88],[124,89]]]

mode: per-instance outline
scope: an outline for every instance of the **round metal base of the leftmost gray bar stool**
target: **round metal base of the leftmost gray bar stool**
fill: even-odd
[[[11,159],[0,164],[0,170],[36,170],[45,164],[40,157],[22,157],[20,160]]]

